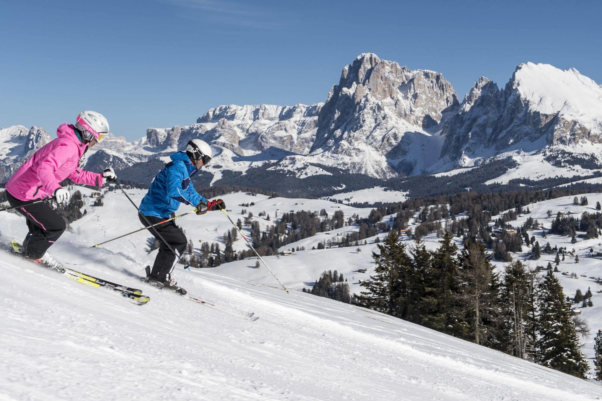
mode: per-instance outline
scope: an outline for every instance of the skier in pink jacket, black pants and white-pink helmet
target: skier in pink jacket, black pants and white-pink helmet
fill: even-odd
[[[101,113],[81,112],[75,125],[58,127],[57,139],[34,153],[8,180],[8,203],[17,207],[27,219],[29,232],[23,240],[23,254],[29,259],[57,267],[57,261],[46,250],[63,234],[66,225],[45,202],[23,205],[47,197],[54,197],[57,203],[66,203],[71,195],[60,185],[65,178],[76,184],[96,186],[102,186],[105,180],[116,181],[111,167],[101,174],[79,168],[79,159],[88,148],[101,142],[108,131],[108,121]]]

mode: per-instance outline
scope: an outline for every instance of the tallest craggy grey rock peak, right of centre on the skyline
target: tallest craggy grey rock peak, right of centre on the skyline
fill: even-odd
[[[347,156],[349,168],[364,174],[411,174],[424,164],[416,159],[430,159],[430,154],[408,158],[408,152],[430,142],[430,133],[458,107],[452,84],[441,74],[362,54],[330,89],[312,154]]]

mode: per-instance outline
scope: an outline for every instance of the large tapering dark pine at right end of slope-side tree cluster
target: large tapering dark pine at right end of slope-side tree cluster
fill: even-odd
[[[537,308],[539,362],[585,379],[589,367],[571,319],[571,304],[566,302],[562,286],[551,270],[539,285]]]

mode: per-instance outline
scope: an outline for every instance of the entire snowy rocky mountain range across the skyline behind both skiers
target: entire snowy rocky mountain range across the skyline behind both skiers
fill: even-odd
[[[205,187],[321,197],[375,186],[410,197],[582,189],[602,183],[602,86],[576,69],[526,63],[501,89],[480,77],[459,101],[438,72],[365,53],[343,68],[325,103],[219,106],[134,142],[111,135],[85,166],[111,165],[147,185],[193,138],[214,151],[196,178]],[[0,182],[50,140],[42,128],[0,130]]]

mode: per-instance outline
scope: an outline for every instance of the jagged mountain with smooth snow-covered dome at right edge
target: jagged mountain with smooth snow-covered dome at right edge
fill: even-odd
[[[503,90],[480,78],[445,122],[441,157],[465,165],[504,151],[602,142],[602,87],[576,69],[526,63]]]

